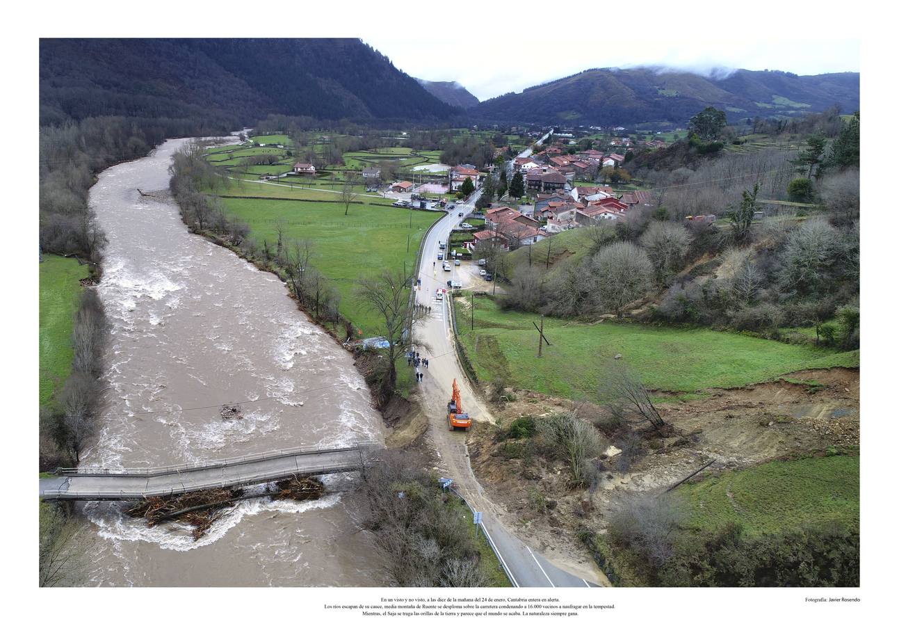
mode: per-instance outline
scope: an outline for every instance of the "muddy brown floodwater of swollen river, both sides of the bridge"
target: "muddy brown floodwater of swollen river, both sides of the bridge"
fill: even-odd
[[[300,445],[382,441],[351,356],[270,273],[191,235],[166,190],[186,139],[99,176],[90,196],[109,237],[98,287],[111,323],[104,417],[83,465],[147,467]],[[220,407],[240,403],[243,419]],[[202,408],[209,407],[209,408]],[[313,502],[245,500],[193,541],[117,503],[80,506],[87,586],[382,586],[355,474]]]

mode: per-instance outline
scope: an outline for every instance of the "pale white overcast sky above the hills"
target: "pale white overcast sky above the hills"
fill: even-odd
[[[425,80],[455,80],[478,99],[486,100],[591,67],[656,66],[692,69],[703,73],[713,67],[780,69],[795,74],[859,71],[859,40],[825,39],[791,32],[788,40],[763,37],[708,37],[637,35],[595,40],[544,40],[521,46],[507,37],[423,37],[395,32],[363,37],[410,76]],[[629,42],[629,43],[628,43]],[[584,45],[586,44],[586,45]],[[572,50],[565,53],[564,49]]]

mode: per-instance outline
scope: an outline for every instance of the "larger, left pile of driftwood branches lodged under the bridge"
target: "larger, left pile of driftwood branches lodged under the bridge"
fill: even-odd
[[[147,497],[129,508],[128,514],[146,518],[150,526],[170,520],[186,523],[193,527],[193,540],[197,541],[225,514],[227,505],[243,495],[243,489],[221,488]]]

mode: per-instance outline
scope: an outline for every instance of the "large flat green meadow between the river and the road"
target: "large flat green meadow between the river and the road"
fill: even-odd
[[[242,191],[235,186],[228,193],[295,200],[225,198],[223,202],[231,216],[249,224],[251,237],[259,242],[265,240],[271,245],[277,240],[275,228],[279,219],[287,226],[287,237],[315,241],[312,264],[334,282],[341,294],[341,312],[366,336],[377,335],[378,319],[360,307],[353,296],[357,280],[365,273],[402,269],[404,263],[411,272],[425,231],[442,215],[375,206],[370,202],[385,201],[360,197],[366,204],[352,204],[350,214],[344,216],[338,194],[275,185],[245,184]]]

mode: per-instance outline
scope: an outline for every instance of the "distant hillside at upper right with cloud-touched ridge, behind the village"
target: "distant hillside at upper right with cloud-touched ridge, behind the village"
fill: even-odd
[[[729,75],[699,76],[657,68],[589,69],[505,94],[471,111],[483,121],[558,124],[683,124],[708,105],[732,120],[794,116],[838,104],[859,109],[859,74],[797,76],[788,72],[739,69]]]

